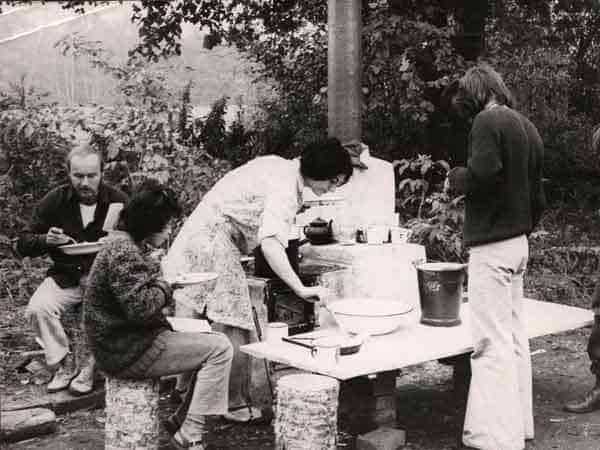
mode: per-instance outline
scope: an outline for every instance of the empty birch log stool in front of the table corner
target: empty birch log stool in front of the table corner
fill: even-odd
[[[335,450],[339,382],[313,374],[286,375],[277,382],[275,448]]]

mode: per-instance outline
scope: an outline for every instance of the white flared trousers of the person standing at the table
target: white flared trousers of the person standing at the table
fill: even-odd
[[[474,352],[463,442],[522,450],[533,438],[531,357],[523,317],[528,243],[519,236],[472,247],[469,303]]]

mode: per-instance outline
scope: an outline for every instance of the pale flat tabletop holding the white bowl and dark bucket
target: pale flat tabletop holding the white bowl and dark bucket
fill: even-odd
[[[530,338],[581,328],[591,325],[594,320],[592,311],[573,306],[525,299],[524,307]],[[358,353],[343,356],[338,364],[328,366],[311,357],[310,350],[283,341],[254,343],[242,346],[241,350],[256,358],[347,380],[471,351],[469,304],[464,303],[461,308],[463,323],[460,326],[422,325],[418,313],[413,312],[406,326],[388,335],[369,338]],[[318,333],[335,334],[339,330],[319,330]]]

